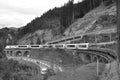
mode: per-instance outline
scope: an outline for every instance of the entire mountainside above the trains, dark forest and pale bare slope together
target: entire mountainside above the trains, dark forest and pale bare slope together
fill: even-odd
[[[71,1],[71,0],[70,0]],[[13,29],[15,36],[12,44],[44,44],[66,36],[100,31],[116,27],[115,0],[90,0],[73,4],[68,2],[60,8],[50,9],[19,29]],[[100,5],[101,4],[101,5]],[[87,6],[86,6],[87,5]],[[70,9],[74,9],[71,11]],[[73,19],[73,20],[70,20]],[[4,31],[4,29],[1,29]],[[5,33],[4,43],[9,42],[10,34]],[[2,37],[1,37],[2,39]],[[8,44],[8,43],[7,43]]]

